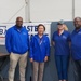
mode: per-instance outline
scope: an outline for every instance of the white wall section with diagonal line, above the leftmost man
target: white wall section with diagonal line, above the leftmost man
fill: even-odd
[[[23,9],[18,11],[21,8]],[[16,16],[23,16],[25,18],[25,1],[0,0],[0,23],[14,22]]]

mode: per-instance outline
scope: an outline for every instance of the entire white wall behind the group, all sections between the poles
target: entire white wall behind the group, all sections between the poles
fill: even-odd
[[[15,22],[17,16],[25,22],[25,0],[0,0],[0,23]],[[81,0],[75,0],[75,16],[81,16]],[[72,0],[30,0],[31,22],[59,19],[72,19]]]

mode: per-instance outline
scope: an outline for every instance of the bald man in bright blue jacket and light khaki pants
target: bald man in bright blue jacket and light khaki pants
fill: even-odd
[[[16,18],[16,25],[8,29],[5,46],[10,53],[9,81],[14,81],[15,68],[19,63],[21,81],[25,81],[27,55],[29,50],[28,31],[23,25],[23,18]]]

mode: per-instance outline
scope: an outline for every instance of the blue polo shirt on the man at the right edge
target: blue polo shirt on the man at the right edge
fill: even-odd
[[[73,59],[81,59],[81,28],[71,33],[71,52]]]

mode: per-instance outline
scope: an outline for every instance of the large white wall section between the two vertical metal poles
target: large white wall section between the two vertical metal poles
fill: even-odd
[[[31,21],[71,19],[71,0],[30,0]]]

